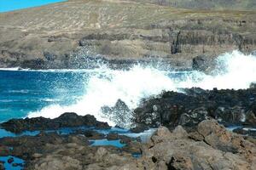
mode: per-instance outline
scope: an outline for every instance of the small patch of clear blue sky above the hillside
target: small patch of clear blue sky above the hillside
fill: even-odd
[[[21,8],[32,8],[49,3],[60,3],[66,0],[0,0],[0,13]]]

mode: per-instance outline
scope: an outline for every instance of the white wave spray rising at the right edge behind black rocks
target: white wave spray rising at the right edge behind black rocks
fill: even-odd
[[[179,87],[204,89],[244,89],[256,82],[256,57],[239,51],[223,54],[217,59],[218,66],[212,75],[195,72],[187,81],[178,82]]]

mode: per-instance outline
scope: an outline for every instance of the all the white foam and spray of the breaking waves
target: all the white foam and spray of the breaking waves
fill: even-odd
[[[172,71],[141,65],[134,65],[129,70],[111,70],[105,65],[94,70],[79,70],[89,72],[90,75],[84,82],[84,94],[79,99],[72,105],[48,105],[39,111],[29,112],[28,117],[55,118],[64,112],[76,112],[79,115],[96,116],[98,121],[108,122],[113,126],[118,122],[113,117],[104,115],[102,106],[111,107],[118,99],[133,110],[140,105],[142,99],[163,91],[180,91],[181,88],[193,87],[242,89],[249,88],[251,82],[256,82],[256,56],[233,51],[218,56],[216,62],[216,69],[210,74],[201,71],[175,72],[182,75],[179,77],[174,77]]]

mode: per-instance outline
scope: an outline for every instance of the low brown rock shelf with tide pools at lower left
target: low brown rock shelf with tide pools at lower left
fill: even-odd
[[[124,148],[91,146],[91,139],[120,139],[126,145]],[[0,139],[0,156],[22,158],[26,161],[25,169],[104,169],[134,161],[132,153],[140,152],[137,140],[114,133],[105,136],[90,130],[68,135],[42,132],[36,136]]]

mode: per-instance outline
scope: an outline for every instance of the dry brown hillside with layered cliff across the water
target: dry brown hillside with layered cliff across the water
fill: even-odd
[[[55,3],[0,14],[0,67],[88,68],[98,66],[90,58],[96,56],[115,64],[160,58],[190,68],[201,54],[212,59],[255,50],[255,23],[252,11],[118,0]]]

